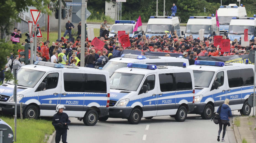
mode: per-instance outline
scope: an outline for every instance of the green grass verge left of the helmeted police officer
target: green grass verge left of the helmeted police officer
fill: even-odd
[[[11,116],[0,117],[4,122],[12,127],[14,132],[14,118]],[[17,142],[16,143],[44,143],[45,134],[48,136],[53,133],[54,127],[50,118],[43,119],[17,119]]]

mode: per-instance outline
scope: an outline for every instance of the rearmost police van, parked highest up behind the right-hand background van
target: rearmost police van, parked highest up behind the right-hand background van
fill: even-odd
[[[219,33],[224,35],[228,32],[232,17],[247,17],[245,7],[236,4],[221,5],[217,11],[219,19]]]

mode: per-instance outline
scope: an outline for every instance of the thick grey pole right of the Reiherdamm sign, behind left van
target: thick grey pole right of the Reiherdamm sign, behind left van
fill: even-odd
[[[81,9],[81,67],[84,67],[84,41],[85,41],[85,1],[82,0]]]

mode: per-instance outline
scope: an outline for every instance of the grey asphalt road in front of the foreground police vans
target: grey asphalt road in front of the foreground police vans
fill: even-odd
[[[232,114],[240,116],[237,111],[232,111]],[[203,120],[195,114],[188,114],[184,122],[176,122],[170,116],[158,116],[150,120],[143,118],[138,125],[128,124],[126,119],[109,118],[105,122],[98,121],[91,127],[85,126],[76,118],[71,118],[67,142],[217,143],[218,129],[219,125],[211,120]],[[226,142],[236,142],[231,127],[227,127],[224,139]]]

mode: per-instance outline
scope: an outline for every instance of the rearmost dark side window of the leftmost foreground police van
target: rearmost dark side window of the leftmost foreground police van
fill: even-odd
[[[87,74],[84,92],[107,93],[106,76],[100,74]]]

